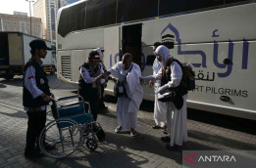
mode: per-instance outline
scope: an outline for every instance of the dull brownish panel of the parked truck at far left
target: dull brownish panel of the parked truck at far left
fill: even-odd
[[[8,43],[9,43],[9,64],[24,65],[22,34],[9,33]]]

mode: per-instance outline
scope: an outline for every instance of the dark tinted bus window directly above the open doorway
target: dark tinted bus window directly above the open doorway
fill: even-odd
[[[158,16],[157,0],[119,0],[118,22],[149,19]]]

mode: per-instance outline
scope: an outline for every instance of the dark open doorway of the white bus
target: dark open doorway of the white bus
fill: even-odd
[[[133,63],[141,66],[141,28],[142,24],[123,26],[122,54],[130,53]]]

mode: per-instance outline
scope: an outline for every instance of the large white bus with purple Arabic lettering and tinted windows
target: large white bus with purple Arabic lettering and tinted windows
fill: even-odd
[[[142,75],[152,74],[154,42],[195,71],[188,107],[256,120],[255,1],[78,1],[58,12],[58,78],[77,84],[78,67],[98,47],[106,67],[128,52]],[[146,85],[144,99],[154,100]]]

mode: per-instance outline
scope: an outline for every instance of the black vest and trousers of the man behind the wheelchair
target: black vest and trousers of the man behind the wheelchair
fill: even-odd
[[[32,65],[35,69],[35,75],[31,77],[35,78],[36,86],[44,94],[50,96],[48,79],[42,66],[35,60],[31,59],[25,65],[25,72],[27,67],[29,67],[30,65]],[[35,99],[32,98],[32,95],[28,92],[24,85],[23,105],[28,107],[28,111],[26,111],[26,114],[28,116],[26,132],[27,153],[35,149],[35,144],[38,147],[38,137],[46,122],[46,110],[41,110],[41,106],[48,105],[48,103],[44,102],[41,96],[38,96]]]

